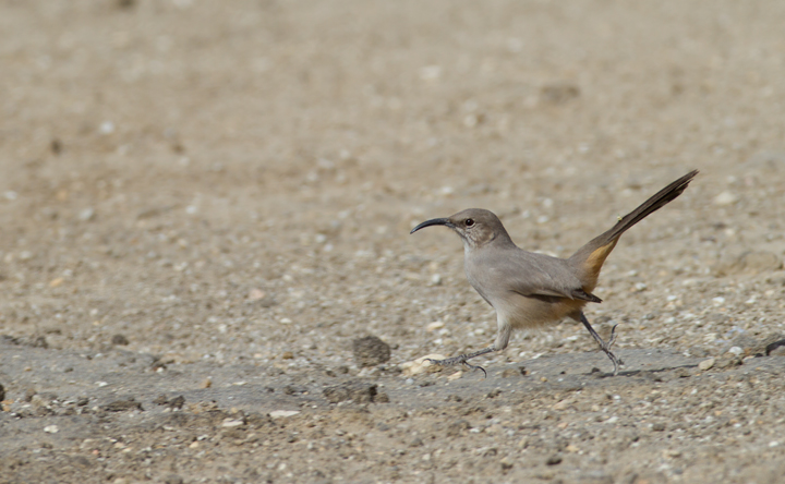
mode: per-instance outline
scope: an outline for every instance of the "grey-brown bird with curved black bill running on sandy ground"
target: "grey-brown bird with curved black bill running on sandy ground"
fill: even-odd
[[[669,183],[567,258],[518,247],[499,218],[483,208],[469,208],[414,227],[410,234],[426,227],[444,226],[460,237],[467,279],[496,311],[497,332],[493,344],[445,360],[431,360],[432,363],[443,366],[464,364],[472,370],[482,370],[487,376],[485,368],[470,364],[469,360],[503,351],[514,329],[543,327],[569,317],[589,330],[613,363],[613,374],[617,375],[620,362],[611,351],[616,341],[616,326],[612,328],[608,341],[604,341],[587,319],[583,307],[602,302],[592,291],[597,286],[605,259],[621,234],[681,195],[697,174],[698,170],[692,170]]]

